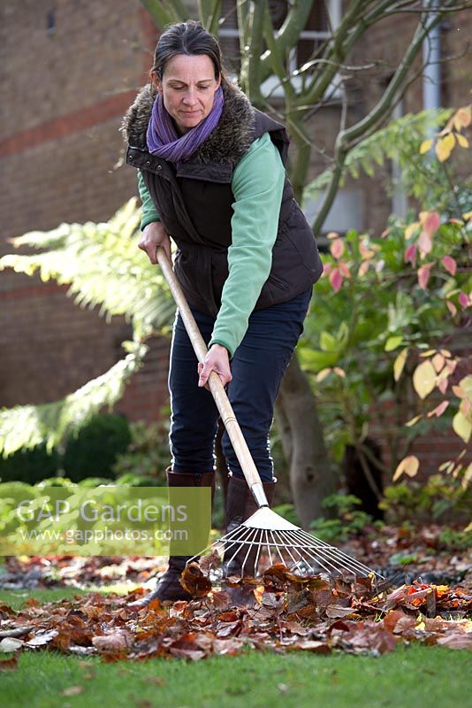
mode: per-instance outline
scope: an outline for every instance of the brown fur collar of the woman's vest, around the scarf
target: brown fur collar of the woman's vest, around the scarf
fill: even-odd
[[[225,106],[219,123],[192,160],[223,165],[239,162],[254,140],[255,112],[247,96],[234,84],[223,86]],[[153,84],[143,86],[128,108],[121,124],[121,134],[132,147],[147,149],[146,131],[156,98]]]

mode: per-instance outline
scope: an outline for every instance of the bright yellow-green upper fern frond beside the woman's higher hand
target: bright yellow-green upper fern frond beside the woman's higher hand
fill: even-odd
[[[175,305],[159,268],[138,249],[139,223],[140,210],[130,199],[106,223],[63,224],[14,239],[16,246],[48,250],[9,254],[0,258],[0,269],[70,285],[68,295],[80,306],[98,305],[101,315],[125,315],[134,327],[157,332],[170,324]]]

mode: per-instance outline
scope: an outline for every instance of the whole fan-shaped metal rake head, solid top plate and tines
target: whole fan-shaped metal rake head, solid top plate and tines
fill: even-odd
[[[215,551],[224,558],[225,575],[258,577],[265,567],[282,563],[300,575],[352,573],[354,578],[371,575],[383,580],[383,576],[369,566],[294,526],[267,506],[218,538],[200,555]],[[192,560],[194,558],[189,562]],[[233,573],[233,567],[237,568],[237,573]]]

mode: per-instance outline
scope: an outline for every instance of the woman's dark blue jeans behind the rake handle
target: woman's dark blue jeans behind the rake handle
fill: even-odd
[[[272,481],[269,430],[285,369],[303,331],[311,289],[287,303],[257,310],[231,361],[227,393],[263,481]],[[215,318],[192,308],[208,344]],[[173,327],[171,368],[171,454],[173,472],[204,473],[214,468],[218,412],[213,396],[198,386],[197,359],[179,316]],[[228,470],[243,478],[240,463],[225,433],[222,440]]]

